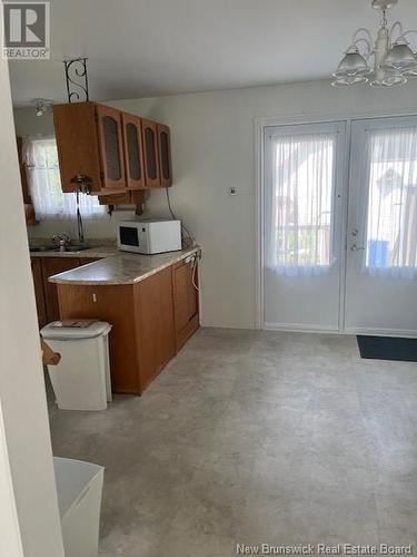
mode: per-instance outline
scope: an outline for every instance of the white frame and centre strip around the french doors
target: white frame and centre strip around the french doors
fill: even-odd
[[[387,110],[374,110],[367,113],[355,113],[351,114],[317,114],[315,116],[292,116],[292,117],[258,117],[254,118],[254,131],[255,131],[255,328],[258,330],[266,330],[265,326],[265,315],[264,315],[264,302],[265,302],[265,289],[264,289],[264,201],[265,201],[265,128],[274,126],[291,126],[299,124],[325,124],[329,121],[345,121],[346,123],[346,140],[345,140],[345,184],[346,192],[342,198],[342,217],[341,217],[341,231],[345,238],[345,245],[341,250],[340,257],[340,276],[339,276],[339,330],[328,331],[320,328],[268,328],[268,330],[276,331],[290,331],[290,332],[315,332],[315,333],[328,333],[328,334],[369,334],[369,331],[358,330],[353,333],[350,330],[348,333],[345,332],[344,321],[345,321],[345,286],[346,286],[346,257],[347,257],[347,211],[349,203],[349,169],[350,169],[350,145],[351,145],[351,125],[356,120],[374,119],[374,118],[396,118],[401,116],[417,116],[417,110],[404,109],[398,113],[387,111]],[[393,333],[391,333],[393,334]],[[386,335],[384,330],[373,330],[373,335]]]

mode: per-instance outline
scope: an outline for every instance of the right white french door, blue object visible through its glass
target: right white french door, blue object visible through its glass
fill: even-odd
[[[417,335],[417,118],[351,126],[345,331]]]

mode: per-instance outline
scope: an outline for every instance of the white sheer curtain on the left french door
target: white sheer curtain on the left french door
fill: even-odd
[[[285,275],[314,275],[331,264],[335,133],[272,137],[265,215],[267,265]]]

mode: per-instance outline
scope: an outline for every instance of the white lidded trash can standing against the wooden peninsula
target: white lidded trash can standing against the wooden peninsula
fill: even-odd
[[[58,365],[48,365],[49,377],[62,410],[106,410],[111,401],[108,335],[109,323],[81,320],[66,326],[53,321],[41,330],[42,338],[61,354]]]

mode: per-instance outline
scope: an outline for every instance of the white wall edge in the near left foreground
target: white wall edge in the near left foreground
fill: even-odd
[[[7,475],[0,486],[0,548],[4,557],[63,557],[9,75],[2,59],[0,114],[0,473]],[[13,531],[4,532],[7,525]]]

